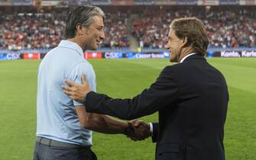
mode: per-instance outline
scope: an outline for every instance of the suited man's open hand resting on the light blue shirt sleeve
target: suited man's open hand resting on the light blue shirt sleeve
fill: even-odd
[[[75,101],[85,103],[86,95],[91,91],[86,81],[86,75],[82,75],[82,85],[79,85],[75,82],[65,79],[65,82],[70,85],[62,85],[63,91],[65,94],[69,95]]]

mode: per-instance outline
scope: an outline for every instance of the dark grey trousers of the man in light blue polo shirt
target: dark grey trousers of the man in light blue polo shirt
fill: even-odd
[[[34,160],[97,160],[97,157],[90,147],[69,149],[36,142]]]

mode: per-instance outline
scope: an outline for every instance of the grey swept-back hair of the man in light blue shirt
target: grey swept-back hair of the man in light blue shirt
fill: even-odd
[[[91,5],[81,6],[70,11],[70,14],[66,18],[65,38],[76,37],[76,25],[82,24],[85,27],[89,27],[92,24],[92,18],[94,16],[100,16],[105,18],[105,14],[101,8]]]

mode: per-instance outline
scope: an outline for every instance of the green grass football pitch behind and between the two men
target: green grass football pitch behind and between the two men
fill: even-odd
[[[256,59],[212,58],[228,82],[225,123],[227,160],[256,159]],[[157,78],[168,59],[93,59],[97,90],[132,98]],[[36,132],[37,60],[0,61],[0,160],[32,159]],[[142,117],[157,121],[157,114]],[[133,142],[123,135],[93,133],[99,160],[153,160],[151,139]]]

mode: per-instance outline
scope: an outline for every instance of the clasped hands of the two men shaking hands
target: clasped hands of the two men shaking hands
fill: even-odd
[[[131,120],[125,129],[125,135],[134,141],[138,141],[147,139],[152,134],[149,123],[142,120]]]

